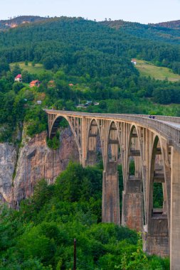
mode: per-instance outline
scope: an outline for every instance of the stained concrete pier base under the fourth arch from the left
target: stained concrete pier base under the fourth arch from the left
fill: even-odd
[[[130,179],[122,193],[122,225],[129,229],[142,231],[143,193],[142,180]]]

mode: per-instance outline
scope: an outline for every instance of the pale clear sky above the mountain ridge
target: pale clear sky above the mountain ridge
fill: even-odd
[[[180,20],[180,0],[0,0],[0,4],[0,19],[38,15],[139,23]]]

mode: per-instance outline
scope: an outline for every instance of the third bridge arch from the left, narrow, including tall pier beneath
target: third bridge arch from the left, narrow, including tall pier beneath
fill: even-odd
[[[102,221],[120,225],[120,190],[117,171],[120,141],[118,127],[111,121],[107,129],[104,149],[104,171],[102,179]]]

